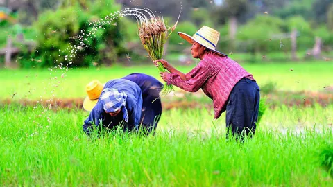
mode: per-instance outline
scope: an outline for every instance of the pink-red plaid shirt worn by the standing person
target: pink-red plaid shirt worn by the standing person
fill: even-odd
[[[198,65],[186,74],[187,81],[176,73],[169,74],[168,84],[173,84],[185,91],[203,92],[213,100],[214,119],[225,111],[229,94],[241,78],[254,80],[253,76],[229,57],[222,57],[214,52],[207,53]]]

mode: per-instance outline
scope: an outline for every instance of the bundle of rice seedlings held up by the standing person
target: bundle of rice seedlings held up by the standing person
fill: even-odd
[[[151,57],[151,60],[162,59],[164,44],[167,42],[169,35],[176,28],[176,24],[172,28],[167,29],[164,20],[159,17],[151,17],[150,19],[140,21],[139,37],[142,45],[148,52],[149,57]],[[171,33],[168,35],[168,30],[170,29]],[[160,72],[167,71],[160,62],[158,63],[158,70]],[[162,89],[162,94],[169,94],[171,91],[173,91],[173,86],[171,84],[168,85],[166,82]]]

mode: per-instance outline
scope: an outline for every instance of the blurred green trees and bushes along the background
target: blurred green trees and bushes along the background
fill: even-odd
[[[0,17],[0,31],[8,33],[1,35],[0,47],[6,46],[8,35],[17,33],[37,42],[34,51],[17,44],[22,48],[17,62],[23,67],[69,63],[65,58],[71,51],[67,49],[79,42],[71,38],[80,30],[92,30],[89,21],[103,19],[122,8],[149,8],[155,15],[163,16],[169,26],[181,12],[175,32],[193,35],[203,25],[216,28],[221,33],[218,49],[226,53],[291,51],[290,35],[295,30],[298,51],[313,48],[315,37],[323,41],[324,51],[332,51],[333,46],[333,0],[3,0],[0,7],[8,8],[11,12],[7,14],[14,17]],[[133,17],[102,26],[87,39],[91,46],[80,49],[67,65],[112,64],[126,56],[143,56],[138,51]],[[182,43],[178,35],[171,35],[168,53],[179,53],[185,48]]]

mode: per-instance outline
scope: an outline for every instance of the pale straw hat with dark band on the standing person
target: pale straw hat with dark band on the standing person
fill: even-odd
[[[195,41],[219,55],[227,56],[224,53],[215,50],[217,42],[219,42],[220,33],[217,30],[214,30],[208,26],[203,26],[202,28],[200,28],[200,30],[198,30],[193,35],[193,37],[182,32],[178,32],[178,35],[180,35],[180,37],[185,39],[190,44]]]

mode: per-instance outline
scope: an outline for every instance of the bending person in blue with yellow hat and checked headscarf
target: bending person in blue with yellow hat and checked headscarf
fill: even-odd
[[[94,125],[113,130],[119,125],[124,132],[142,130],[155,133],[162,114],[160,91],[163,84],[142,73],[110,80],[103,86],[98,80],[86,86],[83,108],[91,111],[84,121],[83,131],[90,135]]]

